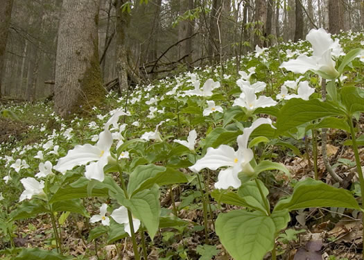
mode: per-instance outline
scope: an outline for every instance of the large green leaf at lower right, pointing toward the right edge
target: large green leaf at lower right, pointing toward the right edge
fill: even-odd
[[[308,207],[345,207],[360,209],[352,193],[346,189],[331,187],[324,182],[306,178],[297,182],[293,194],[286,199],[279,200],[275,211],[288,209],[306,209]]]

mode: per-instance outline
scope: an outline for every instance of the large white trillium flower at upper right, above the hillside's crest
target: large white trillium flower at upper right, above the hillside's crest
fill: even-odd
[[[340,44],[337,41],[333,42],[331,35],[322,28],[311,29],[306,40],[312,45],[313,55],[310,57],[300,55],[295,60],[283,62],[280,67],[295,73],[305,73],[309,70],[322,71],[330,77],[329,79],[338,77],[338,71],[335,69],[336,63],[332,59],[332,55],[333,53],[340,53],[338,51]]]

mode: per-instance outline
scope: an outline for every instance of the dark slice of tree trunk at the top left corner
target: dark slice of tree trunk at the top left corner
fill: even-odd
[[[3,64],[5,60],[6,42],[8,42],[12,3],[12,0],[5,0],[0,4],[0,98],[2,93],[1,82],[3,79]]]

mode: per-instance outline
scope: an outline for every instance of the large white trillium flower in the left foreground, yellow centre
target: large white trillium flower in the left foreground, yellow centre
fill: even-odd
[[[92,146],[84,144],[76,146],[69,150],[65,157],[59,159],[58,164],[54,166],[56,171],[64,174],[75,166],[86,165],[85,177],[102,182],[105,178],[103,167],[111,159],[110,148],[112,146],[112,134],[109,130],[100,133],[98,142]]]

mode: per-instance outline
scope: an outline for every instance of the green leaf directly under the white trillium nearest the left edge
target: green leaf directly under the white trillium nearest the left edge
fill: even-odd
[[[11,220],[19,220],[24,218],[34,218],[38,214],[49,213],[42,204],[37,203],[36,200],[24,201],[14,211],[10,213]]]

